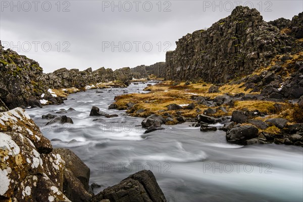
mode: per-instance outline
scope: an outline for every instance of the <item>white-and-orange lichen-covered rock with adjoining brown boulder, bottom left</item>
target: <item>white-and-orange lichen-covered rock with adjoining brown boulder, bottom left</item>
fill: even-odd
[[[0,113],[0,198],[4,201],[88,201],[89,169],[51,142],[21,108]]]

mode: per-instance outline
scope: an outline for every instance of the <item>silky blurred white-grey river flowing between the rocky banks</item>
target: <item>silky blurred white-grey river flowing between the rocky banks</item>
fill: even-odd
[[[146,84],[144,84],[145,86]],[[144,92],[143,84],[128,92]],[[190,123],[164,126],[143,134],[143,118],[108,110],[124,89],[100,89],[71,94],[65,104],[27,109],[54,147],[69,148],[91,169],[90,183],[119,183],[142,169],[152,170],[168,201],[302,201],[302,147],[240,146],[226,142],[225,132],[200,132]],[[89,117],[92,106],[119,117]],[[74,124],[45,126],[44,114],[68,112]],[[93,121],[94,119],[99,119]]]

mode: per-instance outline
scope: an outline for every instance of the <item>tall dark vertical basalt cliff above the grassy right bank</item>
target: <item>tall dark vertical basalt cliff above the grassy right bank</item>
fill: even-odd
[[[301,14],[292,20],[296,33],[300,33],[300,19]],[[179,39],[176,50],[166,53],[164,78],[223,83],[250,74],[268,65],[276,55],[291,51],[286,46],[295,47],[294,38],[280,33],[273,24],[278,22],[263,21],[256,9],[238,6],[207,30],[197,30]],[[282,28],[289,22],[281,24],[278,26]]]

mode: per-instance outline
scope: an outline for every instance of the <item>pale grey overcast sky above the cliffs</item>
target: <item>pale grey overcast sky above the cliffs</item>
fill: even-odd
[[[0,1],[0,39],[44,72],[118,69],[165,61],[187,33],[246,5],[265,21],[291,19],[303,1]]]

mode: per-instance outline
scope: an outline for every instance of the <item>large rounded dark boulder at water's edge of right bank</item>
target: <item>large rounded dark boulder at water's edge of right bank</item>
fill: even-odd
[[[226,132],[226,140],[235,143],[244,143],[248,139],[258,137],[259,130],[255,126],[243,125]]]

